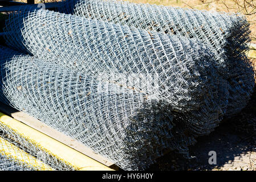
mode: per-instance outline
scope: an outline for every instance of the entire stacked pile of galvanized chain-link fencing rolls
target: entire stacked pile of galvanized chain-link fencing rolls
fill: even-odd
[[[79,1],[79,16],[47,10],[10,15],[6,44],[31,56],[2,55],[1,100],[123,169],[145,169],[167,149],[188,156],[195,137],[213,131],[249,100],[254,73],[242,53],[249,41],[247,22],[239,16],[161,7],[182,16],[172,20],[160,14],[161,20],[154,17],[157,26],[149,26],[147,16],[148,23],[137,17],[122,23],[110,11],[129,3],[105,2],[108,6]],[[145,14],[146,7],[160,8],[132,4],[125,14],[133,13],[133,6]],[[111,16],[102,11],[108,19],[97,17],[95,10],[106,8]],[[74,6],[66,4],[66,9],[72,13]],[[181,19],[185,15],[192,18]]]

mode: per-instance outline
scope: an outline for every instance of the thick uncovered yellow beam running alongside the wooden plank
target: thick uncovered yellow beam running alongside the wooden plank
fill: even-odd
[[[42,147],[44,151],[47,151],[51,155],[56,156],[56,158],[63,160],[63,162],[70,164],[75,169],[86,171],[113,170],[72,149],[71,147],[60,143],[58,140],[48,137],[47,135],[40,133],[38,130],[32,129],[30,126],[27,126],[1,112],[0,122],[14,130],[15,133],[25,137],[31,143],[36,143],[38,146]]]

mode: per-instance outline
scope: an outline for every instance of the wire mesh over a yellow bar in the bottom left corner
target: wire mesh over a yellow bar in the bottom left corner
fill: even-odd
[[[2,98],[3,95],[1,101]],[[17,131],[10,129],[10,127],[0,122],[0,171],[2,170],[71,171],[75,170],[75,168],[71,164],[64,162],[58,156],[51,154],[43,146],[36,144],[31,138],[17,133]]]

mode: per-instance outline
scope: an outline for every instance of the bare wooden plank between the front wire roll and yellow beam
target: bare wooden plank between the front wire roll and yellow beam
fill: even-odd
[[[66,144],[68,147],[71,147],[74,150],[79,151],[82,154],[87,155],[88,157],[94,160],[97,160],[97,162],[100,162],[105,166],[109,167],[113,165],[113,163],[110,162],[108,159],[104,158],[100,154],[96,154],[90,148],[84,146],[83,143],[79,142],[78,140],[72,139],[71,137],[68,137],[63,133],[60,133],[55,129],[52,129],[52,127],[47,126],[46,124],[40,122],[38,119],[34,117],[31,117],[29,114],[23,113],[22,111],[18,111],[13,107],[3,104],[2,102],[0,102],[0,111],[13,117],[14,119],[17,119],[25,125],[30,126],[43,134],[46,134],[48,137],[54,138],[55,140],[58,140],[59,142]]]

